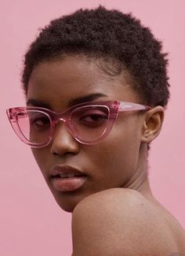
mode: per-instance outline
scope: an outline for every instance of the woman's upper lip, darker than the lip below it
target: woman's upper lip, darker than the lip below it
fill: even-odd
[[[73,173],[75,176],[86,176],[85,173],[83,173],[79,169],[72,167],[71,165],[54,165],[49,171],[51,177],[69,173]]]

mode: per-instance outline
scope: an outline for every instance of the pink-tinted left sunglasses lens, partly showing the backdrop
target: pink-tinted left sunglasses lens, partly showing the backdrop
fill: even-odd
[[[39,145],[49,140],[51,122],[49,116],[37,110],[17,113],[17,124],[27,141]]]

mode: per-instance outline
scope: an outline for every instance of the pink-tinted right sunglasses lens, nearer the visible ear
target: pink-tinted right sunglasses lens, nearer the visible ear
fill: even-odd
[[[93,143],[103,136],[108,119],[107,106],[82,106],[71,113],[71,129],[80,141]]]

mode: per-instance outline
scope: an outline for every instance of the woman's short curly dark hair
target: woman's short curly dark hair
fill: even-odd
[[[132,86],[150,106],[166,106],[169,100],[168,54],[162,53],[161,41],[154,39],[132,13],[96,9],[76,12],[52,20],[42,28],[24,58],[22,84],[27,95],[31,72],[38,63],[62,58],[65,54],[84,54],[104,62],[117,63],[112,75],[125,69]],[[109,72],[110,73],[110,72]],[[114,74],[113,74],[114,73]],[[110,73],[111,75],[111,73]]]

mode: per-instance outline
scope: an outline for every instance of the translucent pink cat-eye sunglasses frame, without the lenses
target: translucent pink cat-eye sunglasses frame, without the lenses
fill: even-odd
[[[107,127],[104,129],[102,135],[94,141],[83,141],[81,138],[78,137],[78,135],[75,134],[73,126],[71,124],[71,113],[74,111],[74,109],[82,109],[83,107],[87,107],[87,106],[104,106],[108,109]],[[103,101],[103,102],[85,102],[82,104],[78,104],[78,105],[72,106],[71,108],[67,109],[63,113],[56,113],[52,110],[45,109],[42,107],[36,107],[36,106],[14,107],[11,109],[7,109],[6,113],[9,118],[9,122],[13,127],[14,132],[16,132],[16,135],[27,145],[31,147],[41,148],[41,147],[46,147],[51,142],[54,131],[55,131],[55,127],[58,121],[63,121],[67,125],[67,128],[71,132],[71,135],[79,143],[89,145],[89,144],[98,143],[100,142],[101,139],[104,139],[107,137],[107,135],[109,135],[109,133],[111,132],[111,129],[114,126],[116,118],[118,117],[119,112],[148,110],[148,109],[151,109],[151,107],[132,103],[132,102]],[[49,134],[48,140],[46,140],[44,143],[39,143],[39,144],[31,143],[22,134],[17,121],[17,115],[18,114],[20,115],[21,113],[24,113],[27,110],[37,110],[37,111],[40,111],[41,113],[45,113],[49,117],[50,124],[51,124],[50,134]]]

